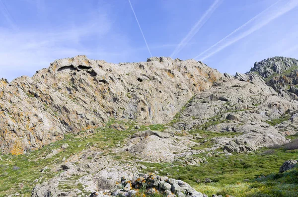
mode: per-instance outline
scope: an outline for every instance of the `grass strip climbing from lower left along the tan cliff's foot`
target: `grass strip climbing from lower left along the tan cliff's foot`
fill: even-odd
[[[109,122],[108,125],[112,124],[112,122],[113,121]],[[39,150],[31,151],[23,155],[12,156],[2,154],[2,160],[0,160],[0,197],[14,193],[23,194],[24,197],[30,197],[31,191],[37,183],[42,183],[44,180],[49,180],[57,175],[57,173],[52,173],[50,170],[41,173],[40,170],[45,166],[53,168],[54,166],[63,163],[63,157],[68,158],[94,144],[96,144],[97,148],[108,151],[108,148],[115,147],[119,142],[120,144],[123,144],[124,139],[134,132],[136,131],[128,130],[123,132],[105,127],[87,137],[79,137],[74,134],[65,135],[65,139],[56,141],[51,145],[44,146]],[[61,147],[64,143],[69,144],[67,149],[61,151],[52,158],[44,159],[51,150]],[[78,147],[78,145],[80,146]],[[119,158],[119,156],[115,156],[115,159]],[[17,166],[20,169],[13,170],[14,166]],[[37,183],[34,182],[36,179],[39,180]],[[24,188],[20,189],[18,183],[23,183]]]

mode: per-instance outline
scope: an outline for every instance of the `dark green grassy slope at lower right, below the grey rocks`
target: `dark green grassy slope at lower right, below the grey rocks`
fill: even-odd
[[[201,164],[201,166],[179,166],[178,163],[143,164],[148,166],[148,170],[151,172],[158,171],[162,175],[169,174],[172,178],[182,179],[207,195],[229,194],[235,197],[263,197],[266,194],[266,197],[297,197],[297,170],[295,171],[296,174],[291,174],[296,177],[289,177],[289,174],[285,174],[286,178],[284,179],[268,179],[267,182],[262,182],[262,179],[256,178],[263,175],[272,177],[272,173],[279,174],[279,168],[284,161],[298,159],[298,153],[277,149],[268,155],[261,153],[264,150],[249,154],[209,157],[207,158],[208,163]],[[202,157],[202,155],[198,156]],[[206,178],[214,180],[215,183],[196,183],[197,180],[204,181]],[[258,184],[254,183],[255,181]],[[280,184],[283,186],[280,187]],[[288,194],[289,188],[291,190],[296,188],[296,190],[291,191],[292,196]],[[272,192],[270,193],[270,191]]]

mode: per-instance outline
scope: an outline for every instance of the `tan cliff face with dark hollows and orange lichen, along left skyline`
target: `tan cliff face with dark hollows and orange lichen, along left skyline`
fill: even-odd
[[[110,118],[167,123],[221,77],[194,60],[118,65],[85,56],[56,60],[31,78],[0,80],[0,148],[21,154],[66,133],[101,127]]]

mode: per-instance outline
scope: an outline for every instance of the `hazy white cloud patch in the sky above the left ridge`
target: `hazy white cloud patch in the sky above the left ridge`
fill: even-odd
[[[0,27],[0,78],[12,80],[20,74],[32,75],[55,59],[76,55],[107,61],[124,59],[127,52],[122,49],[130,48],[127,38],[112,31],[112,25],[109,15],[100,12],[89,15],[83,23],[62,27],[18,31]]]

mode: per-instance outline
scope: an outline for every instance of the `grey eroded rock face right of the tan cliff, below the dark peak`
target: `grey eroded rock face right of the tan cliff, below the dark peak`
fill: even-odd
[[[213,139],[214,149],[221,147],[228,152],[289,142],[285,136],[297,132],[298,110],[298,102],[291,94],[275,91],[253,72],[224,76],[191,99],[173,126],[180,130],[236,133],[234,137]],[[289,119],[269,124],[285,116]]]

